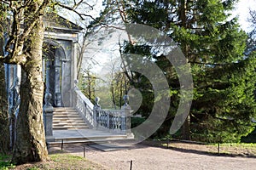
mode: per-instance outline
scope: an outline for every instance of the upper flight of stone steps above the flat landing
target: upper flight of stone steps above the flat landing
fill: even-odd
[[[72,107],[55,107],[53,112],[53,130],[87,129],[78,111]]]

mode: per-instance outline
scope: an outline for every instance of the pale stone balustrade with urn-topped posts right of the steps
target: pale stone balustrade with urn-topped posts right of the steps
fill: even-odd
[[[121,110],[102,110],[96,98],[96,105],[90,102],[84,94],[75,89],[76,109],[91,128],[105,129],[117,133],[131,133],[131,108],[127,104],[128,96],[125,95],[125,105]]]

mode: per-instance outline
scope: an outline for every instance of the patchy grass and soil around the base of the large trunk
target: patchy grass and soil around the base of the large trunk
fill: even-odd
[[[66,170],[66,169],[106,169],[92,161],[88,161],[81,156],[73,156],[63,151],[57,151],[54,154],[49,154],[50,161],[26,163],[20,166],[15,166],[10,163],[10,156],[0,155],[0,170],[9,169],[26,169],[26,170]]]

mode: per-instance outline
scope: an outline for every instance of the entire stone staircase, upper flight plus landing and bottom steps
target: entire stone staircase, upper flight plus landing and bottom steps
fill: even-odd
[[[90,129],[76,109],[56,107],[53,112],[53,140],[49,147],[63,144],[99,144],[133,140],[126,134]]]

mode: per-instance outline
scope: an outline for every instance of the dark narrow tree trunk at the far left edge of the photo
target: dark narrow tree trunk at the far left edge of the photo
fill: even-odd
[[[3,47],[3,38],[0,38],[0,47]],[[3,48],[0,49],[3,55]],[[4,65],[0,62],[0,153],[9,150],[9,116],[5,86]]]

